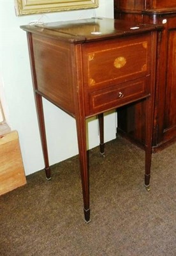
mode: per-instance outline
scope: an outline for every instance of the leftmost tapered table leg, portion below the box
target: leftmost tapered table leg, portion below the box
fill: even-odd
[[[45,132],[45,120],[43,115],[43,103],[41,95],[38,93],[34,93],[36,99],[36,111],[38,114],[38,124],[40,128],[40,137],[41,137],[41,145],[43,150],[43,157],[45,161],[45,173],[47,180],[51,179],[50,173],[50,166],[48,163],[48,150],[47,150],[47,139],[46,139],[46,132]]]

